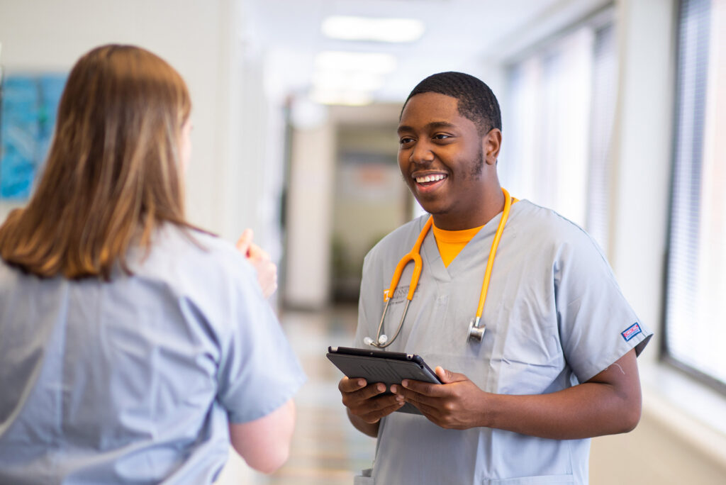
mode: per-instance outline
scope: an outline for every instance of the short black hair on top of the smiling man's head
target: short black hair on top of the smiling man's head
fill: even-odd
[[[481,79],[453,71],[433,74],[411,91],[404,108],[416,94],[432,92],[456,98],[459,114],[473,121],[482,136],[494,128],[502,129],[502,114],[499,112],[497,97]]]

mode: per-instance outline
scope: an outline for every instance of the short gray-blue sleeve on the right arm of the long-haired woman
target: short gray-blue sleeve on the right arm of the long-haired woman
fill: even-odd
[[[217,399],[231,423],[247,423],[285,404],[306,377],[246,261],[229,295]]]

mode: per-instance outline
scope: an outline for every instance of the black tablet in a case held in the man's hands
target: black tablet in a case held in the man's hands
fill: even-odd
[[[441,384],[441,380],[433,370],[423,362],[420,356],[415,354],[351,347],[328,347],[327,358],[348,378],[364,378],[369,384],[386,384],[387,390],[384,394],[391,394],[391,391],[388,391],[391,384],[400,384],[404,379]],[[397,411],[421,414],[415,406],[409,403],[404,404]]]

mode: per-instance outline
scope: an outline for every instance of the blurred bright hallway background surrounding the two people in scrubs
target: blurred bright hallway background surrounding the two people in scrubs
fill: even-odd
[[[0,0],[0,221],[42,170],[70,66],[110,42],[187,81],[189,221],[254,230],[309,376],[289,462],[264,476],[230,450],[219,484],[370,468],[325,351],[353,341],[367,251],[421,213],[396,126],[445,70],[499,99],[502,185],[587,229],[656,332],[640,425],[592,441],[590,483],[726,484],[726,0]]]

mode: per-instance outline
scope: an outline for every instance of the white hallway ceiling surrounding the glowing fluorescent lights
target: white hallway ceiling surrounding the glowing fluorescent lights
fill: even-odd
[[[245,41],[261,52],[267,89],[311,94],[316,55],[324,51],[391,54],[395,68],[369,90],[375,102],[400,102],[426,76],[461,70],[486,76],[531,44],[579,20],[605,0],[249,0]],[[417,19],[423,36],[391,44],[327,38],[331,15]]]

